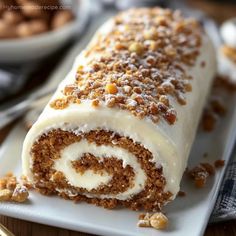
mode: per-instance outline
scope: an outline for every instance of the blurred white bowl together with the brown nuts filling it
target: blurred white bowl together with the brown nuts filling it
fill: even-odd
[[[1,0],[0,63],[43,58],[81,33],[88,0]]]

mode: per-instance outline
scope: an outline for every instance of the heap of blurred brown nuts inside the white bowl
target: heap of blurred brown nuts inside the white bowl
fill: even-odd
[[[71,10],[63,8],[59,0],[1,0],[0,39],[25,38],[58,29],[74,18]]]

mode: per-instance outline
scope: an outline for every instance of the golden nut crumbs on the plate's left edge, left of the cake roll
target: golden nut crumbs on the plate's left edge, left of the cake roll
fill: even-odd
[[[12,173],[2,177],[0,179],[0,201],[25,202],[29,197],[28,180],[26,177],[22,177],[21,181],[26,185],[20,184]],[[32,186],[28,183],[28,187]]]

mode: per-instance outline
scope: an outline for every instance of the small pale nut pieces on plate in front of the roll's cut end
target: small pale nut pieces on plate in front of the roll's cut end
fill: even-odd
[[[141,214],[139,216],[138,226],[162,230],[168,226],[168,218],[162,212]]]

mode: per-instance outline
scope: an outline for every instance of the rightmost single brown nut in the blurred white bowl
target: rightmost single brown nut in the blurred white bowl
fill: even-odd
[[[67,24],[74,18],[71,11],[64,10],[64,11],[58,11],[55,13],[53,19],[52,19],[52,28],[58,29],[61,26]]]

